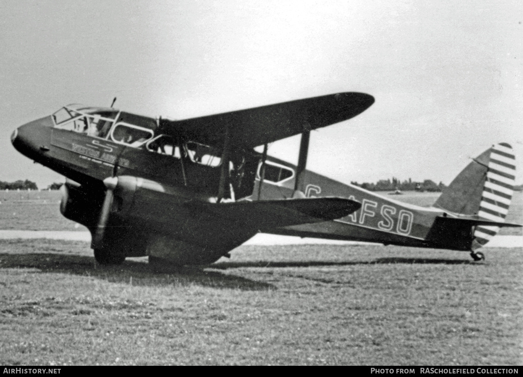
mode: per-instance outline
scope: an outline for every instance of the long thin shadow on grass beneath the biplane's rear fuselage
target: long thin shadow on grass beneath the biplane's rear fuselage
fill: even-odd
[[[378,258],[374,261],[357,261],[357,262],[322,262],[322,261],[310,261],[310,262],[219,262],[211,264],[207,267],[215,269],[229,269],[229,268],[241,268],[241,267],[265,267],[265,268],[282,268],[282,267],[325,267],[325,266],[361,266],[361,265],[373,265],[373,264],[470,264],[470,265],[482,265],[483,263],[474,262],[472,260],[451,260],[451,259],[429,259],[429,258],[401,258],[401,257],[390,257],[390,258]]]

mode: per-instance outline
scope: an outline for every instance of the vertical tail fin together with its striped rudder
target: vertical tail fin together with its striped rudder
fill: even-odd
[[[435,207],[459,215],[476,215],[493,222],[505,222],[514,194],[516,159],[506,143],[484,151],[450,183]],[[471,249],[485,245],[499,227],[477,225]]]

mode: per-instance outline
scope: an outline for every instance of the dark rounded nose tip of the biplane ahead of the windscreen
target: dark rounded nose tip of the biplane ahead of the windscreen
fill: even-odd
[[[22,155],[37,160],[42,151],[49,150],[52,126],[51,116],[21,125],[11,134],[11,143]]]

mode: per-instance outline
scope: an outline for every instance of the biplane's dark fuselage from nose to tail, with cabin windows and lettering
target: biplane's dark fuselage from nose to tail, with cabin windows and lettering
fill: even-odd
[[[79,185],[93,187],[94,191],[96,187],[103,191],[102,182],[108,177],[135,176],[170,187],[161,189],[164,192],[176,192],[178,187],[184,195],[192,195],[196,200],[216,198],[223,171],[222,151],[173,137],[173,133],[157,134],[157,129],[158,121],[151,117],[112,108],[69,105],[53,115],[20,126],[12,142],[25,156]],[[252,149],[231,152],[224,200],[293,197],[296,167],[268,157],[262,178],[261,160],[262,155]],[[337,220],[259,231],[454,250],[470,248],[470,227],[435,230],[437,217],[447,215],[444,210],[397,202],[311,171],[305,171],[298,189],[305,197],[352,199],[360,202],[361,208]]]

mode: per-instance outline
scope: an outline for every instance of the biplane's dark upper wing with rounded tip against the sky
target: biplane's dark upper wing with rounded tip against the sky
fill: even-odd
[[[181,121],[162,120],[158,131],[219,147],[229,127],[233,145],[254,148],[298,135],[306,129],[345,121],[372,103],[374,97],[365,93],[337,93]]]

